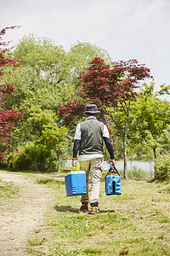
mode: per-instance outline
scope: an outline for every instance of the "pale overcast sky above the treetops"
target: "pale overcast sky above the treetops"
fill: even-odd
[[[65,50],[95,44],[113,61],[149,67],[156,90],[170,85],[170,0],[0,0],[0,10],[0,29],[21,26],[3,37],[12,45],[29,34]]]

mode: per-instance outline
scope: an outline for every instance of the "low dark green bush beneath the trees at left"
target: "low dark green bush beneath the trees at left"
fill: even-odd
[[[54,155],[44,145],[27,143],[18,148],[21,153],[8,155],[8,167],[12,171],[56,172]]]

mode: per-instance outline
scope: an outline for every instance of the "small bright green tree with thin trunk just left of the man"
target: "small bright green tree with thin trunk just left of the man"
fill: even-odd
[[[31,139],[36,145],[43,145],[49,151],[54,151],[58,159],[60,172],[60,158],[68,149],[68,131],[65,126],[59,127],[56,114],[50,110],[31,109],[31,117],[27,119],[31,124]],[[65,154],[66,155],[66,154]]]

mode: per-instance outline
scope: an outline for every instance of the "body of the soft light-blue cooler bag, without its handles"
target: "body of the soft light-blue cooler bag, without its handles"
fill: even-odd
[[[114,175],[105,176],[105,194],[106,195],[122,194],[122,180],[120,176],[114,176]]]

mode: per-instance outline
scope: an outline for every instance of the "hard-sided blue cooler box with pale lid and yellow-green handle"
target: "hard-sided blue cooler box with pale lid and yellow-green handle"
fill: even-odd
[[[87,193],[86,187],[86,172],[80,171],[77,166],[77,172],[71,172],[65,175],[66,195],[84,195]]]

